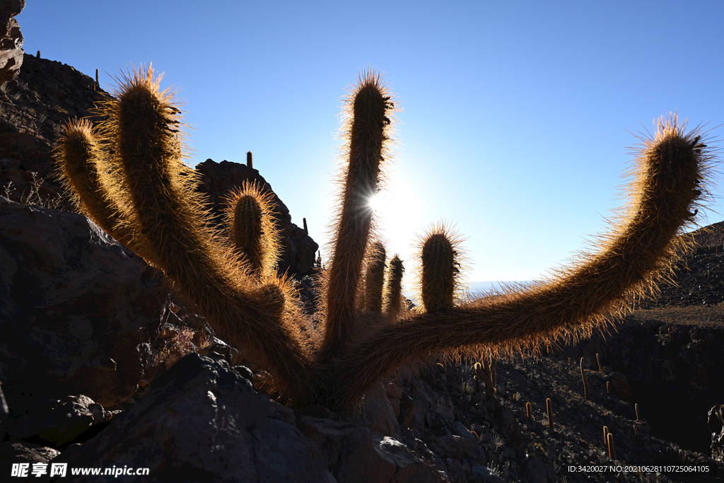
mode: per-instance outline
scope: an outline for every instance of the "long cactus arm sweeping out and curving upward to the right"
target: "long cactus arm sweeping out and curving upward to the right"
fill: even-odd
[[[699,206],[712,157],[699,130],[662,119],[644,140],[639,169],[630,185],[631,204],[599,253],[584,255],[554,280],[511,290],[434,314],[413,314],[350,347],[335,361],[332,403],[355,403],[376,379],[430,353],[486,345],[536,350],[561,337],[589,336],[609,324],[611,314],[631,308],[670,272],[675,253],[690,243],[680,237]]]

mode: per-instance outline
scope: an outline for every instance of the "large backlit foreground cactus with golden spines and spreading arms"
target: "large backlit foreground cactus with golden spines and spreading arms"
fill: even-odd
[[[675,116],[662,119],[654,137],[643,140],[629,204],[599,240],[598,253],[534,287],[464,303],[453,299],[452,306],[445,295],[447,302],[435,310],[400,311],[393,320],[379,316],[382,323],[367,324],[371,319],[358,316],[358,301],[374,235],[368,201],[390,157],[395,106],[379,76],[364,75],[347,103],[348,164],[318,334],[284,280],[255,277],[216,236],[205,201],[193,190],[198,175],[182,162],[180,112],[173,104],[150,67],[123,79],[102,107],[108,121],[100,134],[76,125],[62,138],[58,152],[67,184],[84,206],[98,208],[85,212],[99,226],[162,269],[221,337],[249,348],[282,395],[329,408],[352,406],[380,377],[433,353],[484,349],[498,357],[605,327],[611,314],[654,288],[677,250],[686,248],[686,239],[676,235],[694,220],[707,193],[712,159],[699,130],[686,133]],[[449,253],[439,256],[455,267]]]

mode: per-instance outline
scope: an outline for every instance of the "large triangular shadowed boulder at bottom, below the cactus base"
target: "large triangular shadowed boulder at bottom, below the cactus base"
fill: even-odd
[[[334,482],[291,409],[259,394],[222,357],[195,353],[161,374],[104,431],[53,463],[146,467],[153,477],[125,476],[125,482]]]

